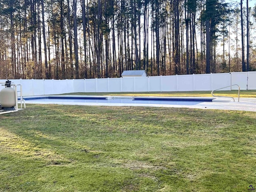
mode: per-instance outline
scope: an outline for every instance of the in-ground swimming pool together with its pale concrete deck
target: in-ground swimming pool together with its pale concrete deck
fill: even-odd
[[[57,98],[58,97],[58,98]],[[59,98],[61,97],[61,98]],[[84,99],[88,99],[84,101]],[[141,99],[144,101],[138,101]],[[156,99],[155,99],[156,98]],[[256,112],[256,98],[242,98],[240,102],[214,97],[127,97],[127,96],[31,96],[24,97],[26,104],[61,104],[80,106],[144,106],[165,108],[194,108],[239,110]],[[53,100],[52,100],[53,99]],[[80,100],[81,99],[81,100]],[[122,100],[118,100],[122,99]],[[132,102],[131,100],[134,101]],[[148,100],[149,99],[149,100]],[[161,100],[172,100],[172,103]],[[157,100],[159,104],[151,104]],[[87,102],[88,101],[88,102]],[[123,103],[122,103],[123,102]],[[1,113],[0,113],[1,114]]]

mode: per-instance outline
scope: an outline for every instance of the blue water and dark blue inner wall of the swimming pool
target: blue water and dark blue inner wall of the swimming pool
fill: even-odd
[[[212,102],[214,98],[171,98],[171,97],[117,97],[105,96],[42,96],[24,98],[33,102],[69,102],[69,103],[112,103],[112,104],[166,104],[196,105],[201,102]]]

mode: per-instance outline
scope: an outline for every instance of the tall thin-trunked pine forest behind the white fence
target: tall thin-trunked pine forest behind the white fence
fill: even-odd
[[[248,0],[1,0],[0,79],[256,69]]]

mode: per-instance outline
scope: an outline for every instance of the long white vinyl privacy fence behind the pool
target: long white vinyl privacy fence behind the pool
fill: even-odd
[[[5,82],[6,80],[0,80]],[[22,84],[23,96],[50,95],[72,92],[167,92],[211,91],[238,84],[241,90],[256,90],[256,72],[192,74],[102,79],[13,79]],[[4,86],[0,86],[0,90]],[[238,89],[237,86],[223,90]]]

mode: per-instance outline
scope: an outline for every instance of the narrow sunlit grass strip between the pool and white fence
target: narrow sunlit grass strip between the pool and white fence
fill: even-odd
[[[106,95],[106,96],[194,96],[211,97],[211,91],[186,91],[186,92],[112,92],[112,93],[68,93],[63,95]],[[214,95],[238,97],[238,90],[215,91]],[[256,90],[240,90],[242,98],[256,98]]]

